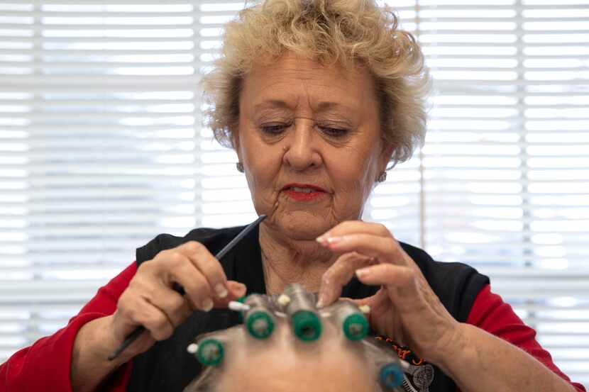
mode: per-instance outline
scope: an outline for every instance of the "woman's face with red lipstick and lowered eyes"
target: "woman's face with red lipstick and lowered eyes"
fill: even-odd
[[[360,218],[392,152],[380,136],[374,91],[363,67],[322,67],[292,54],[253,67],[233,135],[266,225],[314,240]]]

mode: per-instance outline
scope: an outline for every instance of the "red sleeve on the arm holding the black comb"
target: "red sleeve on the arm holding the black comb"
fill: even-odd
[[[99,289],[96,296],[80,310],[67,326],[43,337],[30,347],[13,354],[0,365],[0,391],[6,392],[72,392],[70,361],[78,330],[91,320],[111,315],[121,293],[136,272],[133,262],[121,274]],[[131,374],[131,363],[121,366],[103,390],[123,392]]]

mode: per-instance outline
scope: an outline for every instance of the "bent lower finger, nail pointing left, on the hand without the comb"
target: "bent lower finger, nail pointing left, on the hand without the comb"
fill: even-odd
[[[397,300],[414,299],[419,296],[419,277],[414,269],[394,264],[378,264],[356,271],[356,276],[364,284],[386,286]]]

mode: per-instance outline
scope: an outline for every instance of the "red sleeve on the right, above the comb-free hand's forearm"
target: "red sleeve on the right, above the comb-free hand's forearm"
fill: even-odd
[[[520,349],[538,359],[547,368],[571,383],[571,379],[558,369],[549,352],[536,341],[536,331],[524,324],[512,307],[503,302],[502,298],[491,292],[490,285],[486,285],[475,298],[473,307],[466,319],[466,323],[475,325],[492,335],[502,338],[516,345]],[[577,391],[585,392],[580,383],[571,383]]]

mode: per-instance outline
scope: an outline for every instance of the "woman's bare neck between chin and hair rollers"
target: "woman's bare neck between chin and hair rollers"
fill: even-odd
[[[260,249],[268,294],[282,293],[291,283],[319,291],[321,276],[337,257],[314,239],[292,240],[266,225],[260,225]]]

